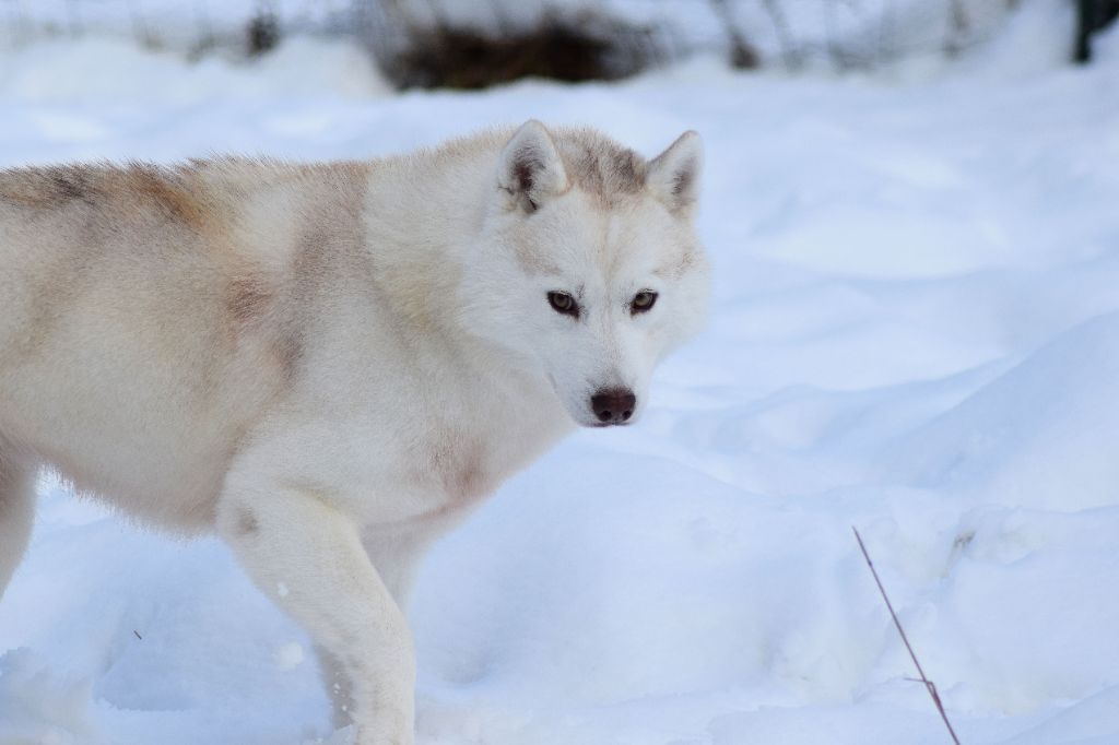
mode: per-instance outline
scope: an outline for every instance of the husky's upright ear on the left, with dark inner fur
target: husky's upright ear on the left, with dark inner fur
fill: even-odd
[[[497,182],[511,206],[536,211],[551,197],[567,190],[567,172],[552,135],[535,119],[521,124],[501,151]]]

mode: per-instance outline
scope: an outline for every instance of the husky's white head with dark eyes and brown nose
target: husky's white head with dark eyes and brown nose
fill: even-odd
[[[577,424],[632,422],[656,364],[704,321],[702,157],[695,132],[647,162],[536,121],[501,151],[462,284],[468,323],[543,374]]]

